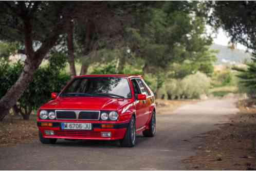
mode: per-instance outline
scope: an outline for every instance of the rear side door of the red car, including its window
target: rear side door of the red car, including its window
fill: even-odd
[[[145,88],[143,81],[140,78],[136,78],[136,81],[139,85],[140,88],[140,92],[141,94],[144,94],[147,96],[146,100],[142,100],[142,104],[141,104],[141,127],[144,126],[147,121],[149,120],[149,110],[150,110],[150,105],[151,105],[151,101],[150,101],[150,97],[149,97],[149,93],[147,91],[147,88]]]

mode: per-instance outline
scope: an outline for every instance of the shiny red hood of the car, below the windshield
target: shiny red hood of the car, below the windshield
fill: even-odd
[[[129,99],[106,97],[59,97],[44,104],[41,109],[118,110],[130,102]]]

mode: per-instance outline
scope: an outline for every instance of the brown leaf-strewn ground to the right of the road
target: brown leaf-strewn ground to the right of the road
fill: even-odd
[[[197,155],[184,160],[189,169],[256,169],[256,112],[240,110],[230,123],[199,137]]]

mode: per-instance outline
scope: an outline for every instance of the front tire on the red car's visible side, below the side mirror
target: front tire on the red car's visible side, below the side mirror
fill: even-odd
[[[132,116],[127,131],[125,133],[124,139],[120,140],[121,146],[133,147],[136,143],[136,122],[135,117]]]

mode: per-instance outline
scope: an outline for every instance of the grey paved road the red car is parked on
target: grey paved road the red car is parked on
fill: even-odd
[[[98,141],[39,141],[0,148],[0,169],[185,169],[181,163],[200,144],[199,134],[216,128],[238,110],[234,100],[207,100],[184,105],[173,113],[157,115],[157,134],[137,136],[134,148]],[[185,141],[184,141],[185,140]],[[188,140],[188,141],[187,141]]]

